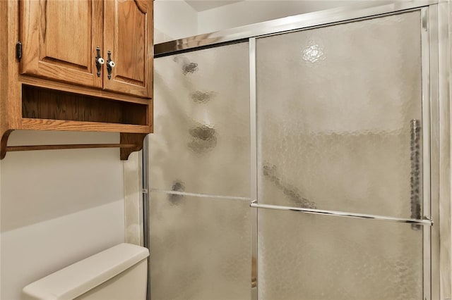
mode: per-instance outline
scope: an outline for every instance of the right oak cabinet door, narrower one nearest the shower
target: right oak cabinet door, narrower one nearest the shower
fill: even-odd
[[[151,97],[153,1],[106,0],[104,6],[105,64],[114,61],[111,76],[105,68],[104,89]]]

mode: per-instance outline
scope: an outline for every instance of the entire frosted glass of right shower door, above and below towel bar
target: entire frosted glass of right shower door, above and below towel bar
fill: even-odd
[[[421,13],[256,39],[258,204],[422,218]],[[422,299],[422,226],[258,209],[259,299]]]

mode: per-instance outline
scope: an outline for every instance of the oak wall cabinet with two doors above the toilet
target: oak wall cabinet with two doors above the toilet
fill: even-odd
[[[8,0],[0,20],[1,158],[25,149],[7,146],[12,130],[120,132],[121,159],[141,149],[153,129],[153,1]]]

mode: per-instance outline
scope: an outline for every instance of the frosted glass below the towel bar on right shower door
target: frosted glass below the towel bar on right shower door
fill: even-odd
[[[258,220],[262,300],[422,299],[422,230],[265,209]]]

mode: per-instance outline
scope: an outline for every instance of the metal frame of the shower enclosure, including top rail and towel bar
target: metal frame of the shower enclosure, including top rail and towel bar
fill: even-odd
[[[271,208],[285,211],[301,211],[335,215],[349,218],[389,220],[415,223],[423,230],[424,300],[452,299],[451,274],[451,173],[450,173],[450,101],[448,78],[451,61],[448,58],[448,8],[447,1],[367,1],[346,8],[294,15],[254,25],[186,37],[154,46],[155,58],[186,51],[196,51],[225,44],[249,42],[250,75],[250,130],[251,130],[251,207]],[[256,134],[256,37],[280,35],[287,32],[307,30],[314,27],[349,23],[356,20],[377,18],[407,11],[420,11],[422,16],[422,136],[423,136],[423,215],[421,219],[392,218],[381,215],[365,215],[338,211],[322,211],[289,206],[258,204],[257,196],[257,134]],[[147,149],[148,144],[145,144]],[[143,165],[143,173],[148,173]],[[441,183],[441,184],[440,184]],[[441,211],[439,210],[441,207]],[[251,225],[251,254],[257,259],[257,215],[251,210],[254,220]],[[148,215],[145,215],[148,218]],[[432,220],[435,221],[433,224]],[[441,243],[440,243],[441,233]],[[144,228],[148,236],[148,227]],[[253,265],[258,274],[257,264]],[[251,299],[257,300],[258,278],[251,278]],[[149,296],[149,294],[148,294]]]

